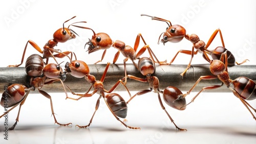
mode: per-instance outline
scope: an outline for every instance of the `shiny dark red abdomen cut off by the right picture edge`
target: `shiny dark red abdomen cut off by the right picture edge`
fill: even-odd
[[[247,77],[239,77],[232,81],[236,90],[244,100],[256,99],[255,82]]]

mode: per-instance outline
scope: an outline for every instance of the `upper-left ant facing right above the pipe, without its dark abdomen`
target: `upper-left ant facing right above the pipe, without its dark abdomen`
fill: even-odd
[[[64,24],[66,22],[68,22],[69,20],[71,20],[71,19],[73,19],[75,17],[76,16],[74,16],[74,17],[66,20],[65,22],[63,22],[63,28],[60,28],[60,29],[58,29],[57,31],[54,32],[53,39],[50,39],[45,44],[44,50],[41,50],[40,47],[34,41],[28,40],[27,43],[26,43],[26,46],[25,46],[25,49],[24,49],[24,52],[23,52],[23,56],[22,56],[22,61],[20,62],[20,64],[8,65],[8,67],[18,67],[18,66],[23,64],[23,60],[24,60],[24,57],[25,57],[25,53],[26,53],[28,44],[31,44],[36,51],[38,51],[39,53],[42,54],[42,58],[46,59],[46,64],[48,64],[48,61],[49,61],[50,57],[53,57],[53,59],[56,61],[55,58],[63,58],[65,56],[68,56],[69,54],[71,54],[71,59],[72,59],[73,54],[75,56],[75,53],[70,52],[70,51],[61,52],[61,50],[59,50],[59,49],[54,49],[54,46],[57,46],[58,42],[62,42],[63,43],[63,42],[66,42],[66,41],[68,41],[70,39],[76,38],[77,34],[73,30],[69,29],[69,27],[72,24],[79,23],[79,22],[72,23],[71,25],[69,25],[68,28],[64,27]],[[80,21],[80,22],[86,23],[86,21]],[[53,55],[54,52],[58,53],[58,54]],[[75,56],[75,59],[76,59],[76,56]],[[56,63],[57,63],[57,61],[56,61]]]

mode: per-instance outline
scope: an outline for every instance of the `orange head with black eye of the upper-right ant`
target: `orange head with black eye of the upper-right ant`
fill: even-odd
[[[162,34],[163,34],[163,39],[161,39],[161,42],[163,44],[168,41],[176,43],[176,42],[180,42],[184,38],[184,36],[186,35],[186,30],[180,25],[173,25],[168,27],[166,31]],[[160,40],[160,37],[159,37],[159,40]],[[158,43],[159,43],[159,40],[158,40]]]

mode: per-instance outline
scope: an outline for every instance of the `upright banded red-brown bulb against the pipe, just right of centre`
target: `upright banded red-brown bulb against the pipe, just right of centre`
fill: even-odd
[[[148,76],[155,73],[155,63],[150,58],[143,57],[139,59],[138,67],[143,76]]]

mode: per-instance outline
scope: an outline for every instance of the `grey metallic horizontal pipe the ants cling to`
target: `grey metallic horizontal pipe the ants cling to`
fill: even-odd
[[[92,64],[89,65],[90,74],[94,75],[97,80],[101,79],[103,71],[106,64]],[[175,86],[181,91],[188,91],[193,84],[200,78],[200,76],[212,75],[209,71],[209,64],[198,64],[191,65],[187,70],[183,78],[180,74],[186,68],[187,65],[156,65],[156,71],[154,76],[158,77],[160,83],[160,89],[163,90],[167,86]],[[133,64],[126,64],[127,75],[133,75],[139,78],[145,78],[140,72],[135,68]],[[255,65],[236,65],[228,67],[228,73],[231,79],[236,79],[238,77],[244,76],[256,81],[256,66]],[[111,64],[108,72],[106,74],[105,80],[103,82],[104,88],[106,90],[111,89],[118,80],[124,77],[124,66],[123,64]],[[9,86],[10,84],[29,84],[29,78],[25,72],[24,67],[1,67],[0,68],[0,92],[4,92],[4,86]],[[70,74],[67,75],[67,79],[64,82],[70,89],[74,92],[86,92],[90,88],[91,84],[87,82],[84,78],[75,78]],[[193,91],[199,91],[204,86],[209,85],[221,85],[219,79],[215,80],[202,80]],[[148,89],[148,83],[138,82],[135,80],[127,79],[127,88],[130,91],[140,91],[143,89]],[[63,87],[60,82],[55,82],[53,84],[45,85],[42,90],[47,92],[64,92]],[[68,91],[68,89],[67,89]],[[125,91],[122,84],[116,88],[116,91]],[[206,90],[208,92],[230,92],[226,86],[214,90]],[[205,92],[206,92],[205,91]],[[37,92],[37,90],[35,91]],[[69,92],[69,91],[68,91]]]

